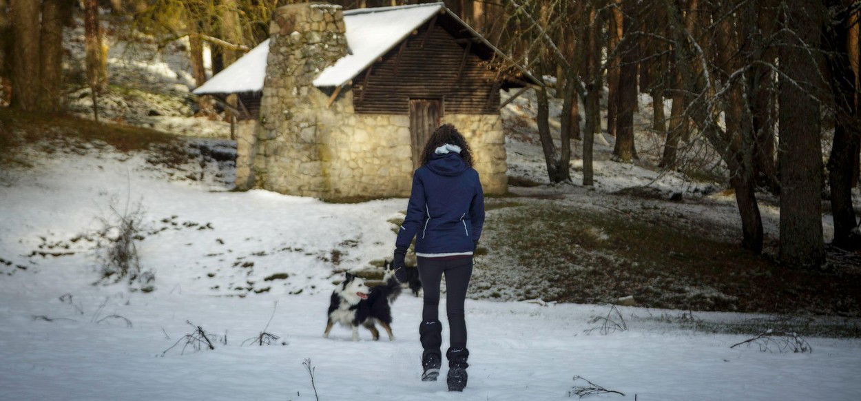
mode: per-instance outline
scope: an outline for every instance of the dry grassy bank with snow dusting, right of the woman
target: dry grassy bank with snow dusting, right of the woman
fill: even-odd
[[[476,261],[474,295],[577,303],[634,295],[648,307],[861,316],[858,268],[790,270],[699,224],[524,202],[488,215],[490,256]]]

